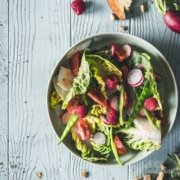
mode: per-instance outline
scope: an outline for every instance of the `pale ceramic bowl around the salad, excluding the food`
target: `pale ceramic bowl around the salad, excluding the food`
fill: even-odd
[[[74,46],[72,46],[65,55],[58,61],[57,65],[55,66],[53,73],[50,77],[48,92],[47,92],[47,106],[49,117],[56,131],[57,135],[60,137],[63,130],[64,125],[59,120],[59,112],[53,110],[49,107],[49,99],[50,94],[53,90],[52,78],[56,75],[59,71],[60,65],[64,64],[69,57],[74,54],[74,52],[83,50],[85,48],[91,48],[94,50],[101,49],[105,45],[109,45],[112,43],[120,43],[120,44],[130,44],[135,49],[140,50],[141,52],[148,53],[152,58],[153,68],[162,75],[163,79],[161,83],[159,83],[159,91],[161,95],[161,99],[163,102],[163,108],[166,117],[166,124],[162,128],[162,141],[164,140],[165,136],[168,135],[170,132],[176,117],[177,107],[178,107],[178,92],[177,92],[177,85],[173,75],[173,72],[166,60],[166,58],[150,43],[147,41],[138,38],[133,35],[124,34],[124,33],[104,33],[98,34],[95,36],[90,36],[88,38],[83,39],[82,41],[78,42]],[[78,157],[81,158],[80,153],[74,146],[74,142],[70,136],[67,136],[63,142],[65,146]],[[129,165],[131,163],[137,162],[153,151],[145,152],[137,152],[137,151],[130,151],[126,155],[122,156],[121,160],[124,161],[125,165]],[[115,165],[117,164],[114,159],[109,160],[108,162],[97,162],[95,164],[103,164],[103,165]]]

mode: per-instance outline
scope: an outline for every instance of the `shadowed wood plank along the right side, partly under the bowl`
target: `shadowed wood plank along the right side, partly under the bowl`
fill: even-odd
[[[137,12],[139,4],[144,1],[138,1],[134,11]],[[147,1],[148,2],[148,1]],[[148,3],[149,11],[141,16],[131,19],[131,34],[140,36],[156,46],[168,59],[172,69],[174,70],[178,87],[180,87],[180,37],[178,34],[171,32],[165,26],[162,16],[157,12],[154,5]],[[133,179],[135,176],[145,173],[158,173],[159,164],[161,164],[168,156],[168,153],[180,150],[180,115],[178,113],[173,130],[168,138],[163,142],[159,151],[154,152],[144,160],[135,163],[129,167],[129,177]]]

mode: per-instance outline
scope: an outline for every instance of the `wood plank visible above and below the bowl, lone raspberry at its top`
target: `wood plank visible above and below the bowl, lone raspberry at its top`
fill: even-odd
[[[71,11],[71,45],[87,36],[97,33],[107,31],[118,32],[118,26],[120,24],[125,26],[129,24],[128,20],[124,22],[112,22],[110,20],[111,10],[104,0],[92,0],[86,1],[86,3],[86,11],[81,16],[77,16],[73,13],[73,11]],[[74,156],[71,157],[71,169],[73,169],[73,173],[71,174],[72,176],[70,179],[83,179],[80,176],[80,172],[83,170],[88,170],[90,172],[90,180],[128,179],[128,167],[102,167],[92,165]]]

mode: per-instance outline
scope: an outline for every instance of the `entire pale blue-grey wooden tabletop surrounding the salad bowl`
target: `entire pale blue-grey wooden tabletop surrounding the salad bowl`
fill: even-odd
[[[157,47],[168,59],[180,86],[180,35],[171,32],[149,0],[134,1],[132,15],[112,22],[105,0],[86,0],[82,16],[70,0],[0,0],[0,180],[131,180],[157,173],[168,153],[180,152],[180,113],[162,148],[128,167],[105,167],[72,155],[51,127],[46,110],[49,76],[66,50],[78,40],[101,32],[137,35]],[[146,3],[144,14],[139,6]]]

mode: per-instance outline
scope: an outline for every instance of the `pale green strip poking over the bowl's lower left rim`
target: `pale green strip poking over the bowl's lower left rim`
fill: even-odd
[[[71,128],[74,126],[75,122],[78,120],[78,118],[79,117],[76,114],[72,114],[70,116],[69,121],[68,121],[68,123],[66,125],[66,128],[64,129],[64,131],[63,131],[63,133],[62,133],[62,135],[60,137],[60,140],[59,140],[58,144],[60,144],[64,140],[64,138],[67,136],[67,134],[69,133]]]

